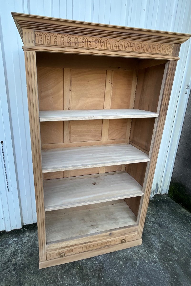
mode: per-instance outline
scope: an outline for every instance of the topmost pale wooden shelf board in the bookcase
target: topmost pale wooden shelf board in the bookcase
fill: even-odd
[[[118,118],[158,117],[151,111],[139,109],[104,109],[104,110],[46,110],[39,111],[40,121],[93,120]]]

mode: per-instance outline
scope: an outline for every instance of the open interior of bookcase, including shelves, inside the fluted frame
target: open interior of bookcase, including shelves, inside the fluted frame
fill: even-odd
[[[136,224],[165,68],[152,61],[37,53],[48,245]]]

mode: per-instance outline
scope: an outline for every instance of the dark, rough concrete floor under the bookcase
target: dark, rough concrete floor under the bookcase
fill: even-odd
[[[0,233],[1,286],[189,286],[191,213],[150,200],[141,246],[39,270],[36,224]]]

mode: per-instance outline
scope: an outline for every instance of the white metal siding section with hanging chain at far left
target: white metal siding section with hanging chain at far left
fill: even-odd
[[[0,31],[1,36],[1,31]],[[0,41],[1,49],[1,41]],[[5,166],[7,171],[7,180],[9,192],[7,191],[7,182],[5,177],[3,155],[0,144],[0,231],[21,228],[21,213],[19,207],[19,196],[17,190],[17,180],[15,174],[15,165],[13,157],[13,148],[11,140],[11,130],[9,122],[9,112],[7,104],[5,73],[3,69],[2,55],[0,53],[0,141],[3,141],[3,152]]]

